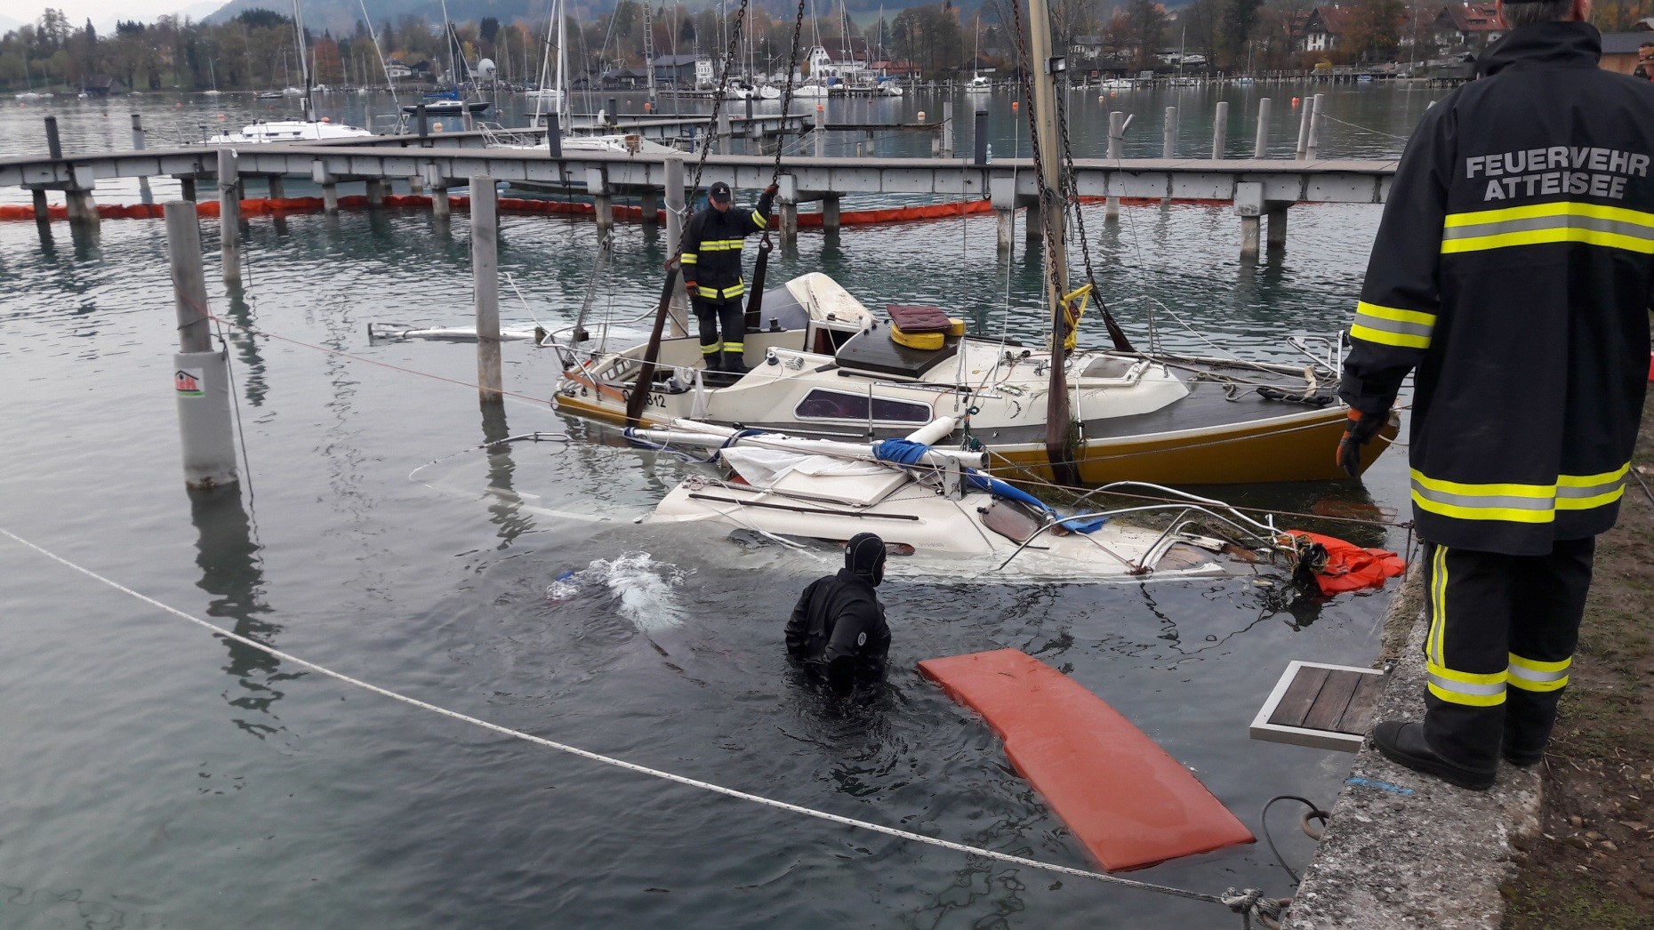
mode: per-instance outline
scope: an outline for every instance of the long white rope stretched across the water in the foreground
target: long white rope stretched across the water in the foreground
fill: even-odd
[[[96,571],[93,571],[89,568],[76,564],[76,563],[73,563],[73,561],[69,561],[69,559],[66,559],[66,558],[63,558],[63,556],[50,551],[50,549],[45,549],[45,548],[41,548],[41,546],[38,546],[38,544],[25,539],[25,538],[18,536],[17,533],[12,533],[10,530],[5,530],[3,526],[0,526],[0,535],[5,535],[12,541],[15,541],[15,543],[18,543],[22,546],[30,548],[30,549],[40,553],[41,556],[46,556],[48,559],[51,559],[51,561],[65,566],[65,568],[78,571],[78,573],[84,574],[86,578],[91,578],[93,581],[98,581],[99,584],[112,587],[112,589],[116,589],[116,591],[119,591],[122,594],[129,594],[129,596],[136,597],[137,601],[142,601],[144,604],[149,604],[151,607],[155,607],[157,611],[172,614],[174,617],[179,617],[179,619],[189,621],[189,622],[192,622],[192,624],[195,624],[198,627],[203,627],[203,629],[210,630],[213,635],[220,635],[223,639],[238,642],[238,644],[246,645],[250,649],[256,649],[256,650],[260,650],[260,652],[263,652],[266,655],[271,655],[275,659],[281,659],[283,662],[293,662],[294,665],[301,665],[304,669],[309,669],[309,670],[318,672],[321,675],[327,675],[329,678],[344,682],[347,685],[362,688],[366,692],[372,692],[375,695],[387,697],[390,700],[402,702],[402,703],[417,707],[420,710],[428,710],[432,713],[438,713],[442,717],[448,717],[448,718],[458,720],[461,723],[470,723],[470,725],[480,726],[483,730],[491,730],[495,733],[500,733],[501,736],[511,736],[513,740],[523,740],[526,743],[534,743],[534,745],[539,745],[539,746],[546,746],[549,750],[557,750],[559,753],[569,753],[572,756],[581,756],[584,760],[590,760],[590,761],[595,761],[595,763],[604,763],[604,765],[609,765],[609,766],[622,768],[625,771],[635,771],[638,774],[647,774],[647,776],[660,778],[660,779],[665,779],[665,781],[675,781],[678,784],[686,784],[690,788],[700,788],[701,791],[711,791],[715,794],[724,794],[728,798],[736,798],[736,799],[741,799],[741,801],[751,801],[754,804],[762,804],[766,808],[776,808],[779,811],[789,811],[789,813],[794,813],[794,814],[804,814],[807,817],[815,817],[815,819],[820,819],[820,821],[844,824],[847,827],[857,827],[857,829],[865,829],[865,831],[872,831],[872,832],[880,832],[880,834],[885,834],[885,836],[893,836],[896,839],[908,839],[908,841],[913,841],[913,842],[923,842],[926,846],[936,846],[936,847],[941,847],[941,849],[951,849],[954,852],[964,852],[968,856],[982,856],[986,859],[994,859],[994,860],[999,860],[999,862],[1009,862],[1012,865],[1027,865],[1030,869],[1040,869],[1040,870],[1045,870],[1045,872],[1059,872],[1062,875],[1073,875],[1077,879],[1092,879],[1092,880],[1097,880],[1097,882],[1107,882],[1107,884],[1121,885],[1121,887],[1128,887],[1128,889],[1141,889],[1141,890],[1150,890],[1150,892],[1159,892],[1159,894],[1166,894],[1166,895],[1183,897],[1183,899],[1189,899],[1189,900],[1204,900],[1204,902],[1211,902],[1211,904],[1221,904],[1221,905],[1234,910],[1236,913],[1239,913],[1244,920],[1247,920],[1249,925],[1250,925],[1250,917],[1254,913],[1267,920],[1267,918],[1274,917],[1275,913],[1279,913],[1279,910],[1280,910],[1280,904],[1279,902],[1275,902],[1274,899],[1262,897],[1262,894],[1259,890],[1255,890],[1255,889],[1247,889],[1247,890],[1242,890],[1242,892],[1237,892],[1236,889],[1229,889],[1227,892],[1224,892],[1221,895],[1211,895],[1211,894],[1191,892],[1188,889],[1178,889],[1178,887],[1171,887],[1171,885],[1154,885],[1154,884],[1150,884],[1150,882],[1136,882],[1136,880],[1131,880],[1131,879],[1121,879],[1121,877],[1116,877],[1116,875],[1108,875],[1105,872],[1092,872],[1092,870],[1087,870],[1087,869],[1075,869],[1072,865],[1057,865],[1054,862],[1040,862],[1039,859],[1027,859],[1027,857],[1022,857],[1022,856],[1012,856],[1009,852],[994,852],[992,849],[982,849],[979,846],[966,846],[963,842],[953,842],[953,841],[946,841],[946,839],[936,839],[936,837],[931,837],[931,836],[908,832],[908,831],[901,831],[901,829],[896,829],[896,827],[887,827],[883,824],[875,824],[872,821],[858,821],[858,819],[845,817],[845,816],[840,816],[840,814],[830,814],[827,811],[817,811],[814,808],[804,808],[801,804],[791,804],[787,801],[776,801],[774,798],[764,798],[761,794],[749,794],[746,791],[738,791],[734,788],[724,788],[721,784],[713,784],[710,781],[700,781],[700,779],[695,779],[695,778],[688,778],[685,774],[675,774],[675,773],[670,773],[670,771],[662,771],[662,769],[657,769],[657,768],[648,768],[648,766],[642,766],[642,765],[637,765],[637,763],[629,763],[625,760],[617,760],[614,756],[604,756],[604,755],[594,753],[590,750],[582,750],[579,746],[571,746],[567,743],[557,743],[554,740],[547,740],[544,736],[534,736],[533,733],[524,733],[521,730],[511,730],[509,726],[501,726],[500,723],[490,723],[488,720],[481,720],[478,717],[470,717],[470,715],[460,713],[457,710],[448,710],[445,707],[437,707],[435,703],[418,700],[415,697],[409,697],[409,695],[404,695],[400,692],[394,692],[390,688],[382,688],[379,685],[364,682],[361,678],[352,678],[351,675],[346,675],[344,672],[334,672],[332,669],[327,669],[326,665],[318,665],[314,662],[308,662],[304,659],[299,659],[298,655],[293,655],[293,654],[283,652],[283,650],[280,650],[280,649],[276,649],[273,645],[266,645],[263,642],[258,642],[256,639],[248,639],[248,637],[240,635],[237,632],[227,630],[227,629],[223,629],[223,627],[220,627],[217,624],[210,624],[210,622],[207,622],[207,621],[203,621],[203,619],[200,619],[200,617],[197,617],[194,614],[185,614],[184,611],[180,611],[177,607],[172,607],[170,604],[164,604],[160,601],[155,601],[154,597],[151,597],[147,594],[142,594],[139,591],[132,591],[131,587],[126,587],[124,584],[121,584],[121,582],[117,582],[114,579],[104,578],[104,576],[98,574]]]

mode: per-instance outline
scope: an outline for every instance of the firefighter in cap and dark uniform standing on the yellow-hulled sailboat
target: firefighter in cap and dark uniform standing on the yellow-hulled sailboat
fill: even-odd
[[[681,265],[683,283],[690,288],[690,304],[701,329],[701,357],[708,369],[744,372],[741,354],[746,351],[746,309],[741,304],[746,281],[741,278],[741,245],[748,235],[769,227],[769,209],[776,189],[771,185],[758,197],[758,207],[743,213],[733,205],[718,210],[715,204],[729,202],[729,185],[713,184],[706,192],[706,209],[690,217],[683,230]],[[718,328],[723,324],[723,339]]]

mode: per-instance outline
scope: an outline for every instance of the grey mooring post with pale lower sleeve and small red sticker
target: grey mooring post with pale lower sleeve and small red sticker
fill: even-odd
[[[179,407],[184,485],[192,490],[235,485],[240,475],[230,420],[230,359],[223,349],[213,351],[212,344],[195,204],[172,200],[164,212],[172,296],[179,319],[179,351],[172,356],[172,395]]]

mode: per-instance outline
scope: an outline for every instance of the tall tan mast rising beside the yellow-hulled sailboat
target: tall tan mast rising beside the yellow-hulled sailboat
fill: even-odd
[[[1034,84],[1034,137],[1039,141],[1039,218],[1045,227],[1045,306],[1050,311],[1050,391],[1045,397],[1045,453],[1059,482],[1073,483],[1073,448],[1068,437],[1068,384],[1064,371],[1068,293],[1068,255],[1064,243],[1062,144],[1057,134],[1057,76],[1062,58],[1052,56],[1050,10],[1045,0],[1029,0],[1029,60]]]

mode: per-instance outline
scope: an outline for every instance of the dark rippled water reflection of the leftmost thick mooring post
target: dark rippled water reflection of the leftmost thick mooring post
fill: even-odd
[[[261,619],[270,614],[263,602],[265,571],[258,558],[260,546],[253,541],[251,521],[241,506],[240,488],[213,488],[190,491],[190,523],[195,525],[195,564],[202,569],[197,587],[212,596],[207,602],[208,617],[230,621],[238,635],[258,642],[273,642],[281,627]],[[243,731],[263,740],[278,733],[280,720],[271,715],[271,705],[281,700],[280,682],[298,678],[303,672],[281,672],[281,662],[250,645],[225,640],[230,664],[225,672],[240,685],[240,692],[227,692],[230,707],[248,712],[232,721]]]

